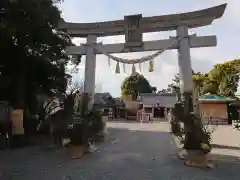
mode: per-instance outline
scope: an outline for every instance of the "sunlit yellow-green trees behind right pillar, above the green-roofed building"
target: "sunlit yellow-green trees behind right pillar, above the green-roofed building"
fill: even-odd
[[[211,93],[234,97],[237,92],[239,73],[240,59],[217,64],[207,74],[195,73],[193,71],[195,90],[199,92],[199,95]],[[174,92],[179,90],[179,86],[180,78],[179,74],[176,74],[173,78],[173,83],[169,84],[167,89],[159,92]]]

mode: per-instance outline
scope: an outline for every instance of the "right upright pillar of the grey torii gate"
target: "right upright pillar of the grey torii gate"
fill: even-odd
[[[190,96],[193,93],[193,80],[188,27],[185,25],[178,26],[177,37],[183,37],[183,39],[180,40],[178,47],[178,65],[180,75],[180,90],[182,97],[185,99],[185,111],[189,112],[192,110],[192,102]]]

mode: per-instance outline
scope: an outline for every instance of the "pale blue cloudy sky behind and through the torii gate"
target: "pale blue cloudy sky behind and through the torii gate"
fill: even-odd
[[[211,26],[192,29],[190,33],[197,35],[217,35],[218,45],[211,48],[198,48],[191,50],[193,69],[207,72],[216,63],[240,57],[240,1],[239,0],[65,0],[60,5],[62,16],[68,22],[97,22],[123,19],[124,15],[143,14],[143,16],[164,15],[172,13],[189,12],[208,8],[228,2],[224,16],[216,20]],[[144,40],[159,40],[174,36],[175,32],[159,32],[144,34]],[[124,36],[99,38],[103,43],[124,42]],[[74,39],[74,43],[84,43],[85,39]],[[152,52],[128,53],[117,55],[133,59],[149,55]],[[167,51],[154,61],[154,72],[148,72],[148,64],[143,64],[143,75],[152,86],[159,90],[171,83],[174,74],[178,72],[177,53],[175,50]],[[96,81],[102,91],[110,92],[114,96],[120,95],[120,86],[126,74],[115,74],[114,63],[108,66],[108,59],[104,55],[97,56]],[[127,68],[127,74],[131,73]],[[80,81],[84,78],[84,61],[79,66],[79,72],[74,79]]]

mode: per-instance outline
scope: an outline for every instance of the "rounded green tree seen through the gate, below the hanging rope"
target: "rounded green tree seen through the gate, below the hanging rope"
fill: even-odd
[[[136,100],[139,93],[152,93],[152,87],[148,80],[139,73],[135,73],[125,78],[122,86],[122,98]]]

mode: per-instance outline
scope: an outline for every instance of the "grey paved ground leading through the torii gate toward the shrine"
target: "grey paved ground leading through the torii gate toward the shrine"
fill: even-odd
[[[34,147],[0,151],[0,180],[237,180],[240,164],[213,170],[183,165],[163,123],[108,123],[99,151],[70,160],[65,150]]]

